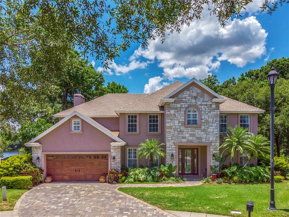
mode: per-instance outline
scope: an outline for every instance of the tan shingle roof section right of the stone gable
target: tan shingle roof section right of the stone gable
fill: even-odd
[[[243,102],[239,102],[234,99],[223,96],[227,99],[226,102],[220,104],[220,112],[253,112],[253,113],[263,113],[263,109],[256,108],[252,105],[247,105]]]

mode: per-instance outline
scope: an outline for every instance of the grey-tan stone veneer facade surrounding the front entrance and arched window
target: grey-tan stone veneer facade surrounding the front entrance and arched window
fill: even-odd
[[[175,155],[175,142],[210,142],[210,165],[218,165],[213,160],[213,153],[219,147],[219,103],[212,102],[212,98],[195,86],[191,86],[178,96],[175,102],[166,104],[166,165],[172,163]],[[189,105],[196,105],[201,111],[201,127],[185,127],[185,109]]]

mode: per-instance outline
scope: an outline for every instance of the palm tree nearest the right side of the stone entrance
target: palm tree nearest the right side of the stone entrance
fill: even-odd
[[[236,125],[235,128],[228,126],[227,137],[223,139],[223,144],[218,149],[224,149],[221,156],[225,151],[228,151],[231,158],[231,165],[234,164],[234,154],[236,151],[247,154],[249,150],[253,149],[247,131],[247,128],[244,129],[238,125]]]

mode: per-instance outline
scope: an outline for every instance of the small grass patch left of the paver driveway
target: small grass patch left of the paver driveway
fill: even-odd
[[[27,189],[7,189],[7,200],[2,201],[2,189],[0,188],[0,211],[13,210],[15,203]]]

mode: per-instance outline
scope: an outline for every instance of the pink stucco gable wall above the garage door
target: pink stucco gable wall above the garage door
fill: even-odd
[[[42,152],[96,152],[110,151],[112,138],[86,121],[82,121],[82,134],[70,134],[70,120],[40,138]]]

